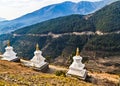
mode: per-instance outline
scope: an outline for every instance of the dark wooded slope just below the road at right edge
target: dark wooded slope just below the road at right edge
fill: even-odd
[[[120,55],[120,34],[94,36],[88,41],[85,49],[88,51],[108,52],[108,55]]]

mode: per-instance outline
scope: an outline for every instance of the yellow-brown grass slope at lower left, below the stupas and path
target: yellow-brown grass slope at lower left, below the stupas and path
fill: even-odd
[[[73,77],[40,73],[20,63],[0,61],[0,86],[94,86]]]

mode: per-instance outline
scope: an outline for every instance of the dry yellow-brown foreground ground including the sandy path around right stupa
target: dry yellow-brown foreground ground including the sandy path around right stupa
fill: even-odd
[[[93,65],[92,63],[91,66]],[[67,71],[68,69],[50,65],[48,73],[41,73],[24,67],[21,63],[0,61],[0,86],[118,86],[120,79],[115,74],[92,70],[88,71],[91,77],[89,82],[85,82],[73,77],[56,76],[54,73],[56,70]]]

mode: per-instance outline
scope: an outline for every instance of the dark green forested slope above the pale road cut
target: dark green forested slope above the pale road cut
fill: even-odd
[[[48,20],[15,31],[17,34],[66,33],[82,31],[113,32],[120,30],[120,1],[87,16],[71,15]],[[90,18],[89,18],[90,17]]]

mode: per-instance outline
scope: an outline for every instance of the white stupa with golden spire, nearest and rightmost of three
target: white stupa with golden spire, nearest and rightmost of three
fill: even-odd
[[[85,79],[87,75],[85,65],[82,64],[82,57],[79,53],[79,48],[76,50],[76,56],[73,57],[73,63],[70,65],[69,70],[66,75],[78,76],[80,79]]]

